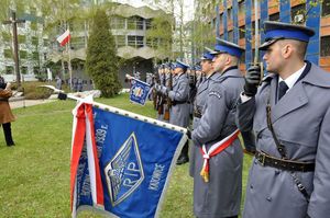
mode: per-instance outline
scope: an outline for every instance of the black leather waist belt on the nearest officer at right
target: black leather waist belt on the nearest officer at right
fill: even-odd
[[[255,152],[255,159],[261,163],[261,165],[272,167],[279,170],[299,171],[299,172],[315,171],[315,163],[312,162],[299,162],[299,161],[278,159],[261,151]]]

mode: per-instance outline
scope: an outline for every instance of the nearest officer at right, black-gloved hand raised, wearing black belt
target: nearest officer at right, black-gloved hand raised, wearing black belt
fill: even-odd
[[[238,125],[256,134],[243,217],[323,218],[330,215],[330,73],[304,61],[315,32],[265,22],[260,68],[246,71]]]

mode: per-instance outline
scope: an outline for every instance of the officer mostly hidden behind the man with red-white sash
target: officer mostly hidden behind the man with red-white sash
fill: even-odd
[[[201,117],[201,112],[204,110],[205,106],[205,101],[207,99],[207,94],[208,94],[208,87],[212,81],[217,81],[219,79],[219,77],[221,76],[220,73],[215,73],[213,67],[212,67],[212,59],[215,58],[213,55],[211,55],[210,53],[213,51],[210,48],[206,48],[206,53],[202,55],[202,57],[200,58],[200,73],[197,77],[197,82],[196,82],[196,87],[197,87],[197,93],[196,93],[196,97],[194,101],[194,112],[193,112],[193,129],[196,129],[198,124],[199,124],[199,119]],[[200,68],[200,67],[199,67]],[[199,68],[197,68],[199,70]],[[208,80],[206,80],[206,82],[202,81],[202,73],[206,74],[208,77]],[[191,152],[190,152],[190,171],[189,174],[190,176],[194,177],[195,174],[195,159],[196,159],[196,154],[199,154],[199,148],[194,146],[191,148]],[[199,169],[200,171],[200,169]],[[199,174],[199,173],[198,173]]]

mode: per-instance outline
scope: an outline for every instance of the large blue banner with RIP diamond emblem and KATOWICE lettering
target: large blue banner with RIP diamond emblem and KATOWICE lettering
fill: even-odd
[[[79,211],[89,206],[113,217],[157,217],[170,169],[186,139],[184,134],[97,107],[92,107],[92,117],[102,185],[95,190],[102,190],[103,205],[92,200],[95,173],[89,172],[94,168],[88,164],[94,162],[88,160],[85,141],[74,209]]]

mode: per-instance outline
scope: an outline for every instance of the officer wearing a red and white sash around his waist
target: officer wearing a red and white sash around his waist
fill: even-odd
[[[194,173],[194,214],[199,218],[238,217],[240,213],[243,151],[234,113],[244,83],[238,69],[243,50],[217,38],[212,67],[220,77],[209,74],[202,83],[206,102],[191,133],[194,145],[202,148],[202,153],[196,153]],[[218,152],[220,146],[227,148]]]

